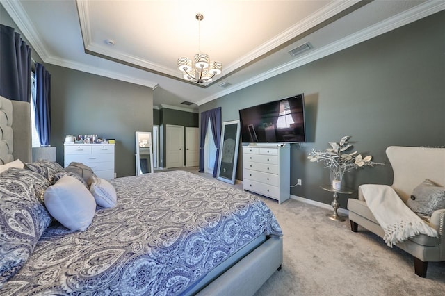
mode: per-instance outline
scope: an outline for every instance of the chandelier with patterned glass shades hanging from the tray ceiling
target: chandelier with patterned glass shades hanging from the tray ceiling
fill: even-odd
[[[198,13],[196,19],[199,24],[199,53],[195,54],[192,60],[186,57],[178,58],[178,69],[182,72],[184,79],[196,83],[207,83],[213,80],[213,76],[223,72],[223,64],[217,61],[210,61],[208,54],[201,52],[201,21],[204,15]]]

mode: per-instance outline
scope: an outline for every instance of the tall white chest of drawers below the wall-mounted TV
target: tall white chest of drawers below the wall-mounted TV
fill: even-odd
[[[281,204],[291,192],[291,145],[243,146],[243,189],[277,199]]]

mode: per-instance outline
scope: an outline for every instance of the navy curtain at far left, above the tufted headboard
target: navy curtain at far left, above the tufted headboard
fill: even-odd
[[[31,98],[31,47],[10,26],[0,24],[0,95],[13,101]]]

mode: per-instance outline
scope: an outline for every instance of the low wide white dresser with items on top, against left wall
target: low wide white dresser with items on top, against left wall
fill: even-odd
[[[67,167],[72,161],[91,167],[96,176],[114,178],[114,144],[64,144]]]

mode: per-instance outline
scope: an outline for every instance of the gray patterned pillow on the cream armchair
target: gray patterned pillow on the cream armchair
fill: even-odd
[[[414,188],[406,204],[420,217],[430,217],[434,211],[445,208],[445,187],[426,179]]]

